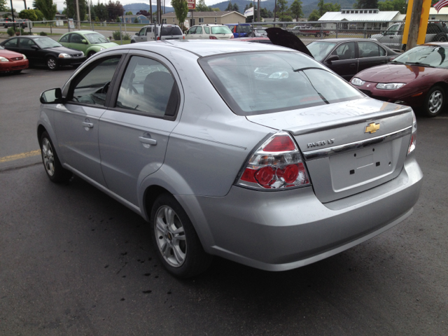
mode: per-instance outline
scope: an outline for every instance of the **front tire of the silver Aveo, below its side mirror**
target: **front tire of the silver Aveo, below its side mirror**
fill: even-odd
[[[69,181],[73,175],[67,169],[64,169],[57,157],[55,146],[47,132],[43,132],[40,139],[42,163],[47,173],[48,179],[55,183],[63,183]]]

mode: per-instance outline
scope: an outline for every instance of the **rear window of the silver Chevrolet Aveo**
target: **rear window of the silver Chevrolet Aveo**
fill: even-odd
[[[200,65],[239,116],[363,97],[325,66],[298,52],[232,53],[203,57]]]

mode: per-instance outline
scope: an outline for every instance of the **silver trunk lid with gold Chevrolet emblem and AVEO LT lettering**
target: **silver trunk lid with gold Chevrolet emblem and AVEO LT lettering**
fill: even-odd
[[[323,203],[398,176],[412,132],[412,109],[373,99],[246,118],[293,135]]]

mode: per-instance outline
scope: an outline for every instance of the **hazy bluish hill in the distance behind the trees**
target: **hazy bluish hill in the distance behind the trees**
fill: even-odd
[[[288,0],[288,7],[291,6],[293,1],[294,0]],[[326,2],[340,3],[341,8],[353,8],[353,3],[356,2],[356,0],[324,0],[324,1],[325,1],[325,3]],[[227,8],[227,6],[229,6],[229,2],[230,1],[218,2],[218,3],[211,5],[210,7],[219,8],[220,10],[225,10],[225,8]],[[246,5],[249,5],[251,3],[253,4],[253,1],[246,1],[246,0],[232,0],[231,2],[232,2],[232,5],[234,3],[237,3],[237,5],[239,7],[239,13],[241,13],[241,14],[244,13],[244,8],[246,7]],[[154,0],[154,3],[155,3],[155,0]],[[260,1],[260,6],[261,6],[261,8],[266,8],[267,10],[272,10],[272,12],[274,12],[274,3],[275,3],[275,0]],[[318,3],[318,1],[316,1],[316,0],[302,0],[302,9],[303,9],[305,18],[307,18],[309,13],[311,13],[314,9],[317,9],[317,3]],[[148,10],[148,12],[149,12],[149,3],[130,3],[129,5],[123,6],[123,8],[125,8],[125,11],[127,11],[127,12],[131,11],[134,14],[136,14],[139,10]],[[153,5],[153,13],[155,12],[155,10],[157,10],[157,6]],[[165,6],[165,13],[170,13],[170,12],[174,12],[174,8]]]

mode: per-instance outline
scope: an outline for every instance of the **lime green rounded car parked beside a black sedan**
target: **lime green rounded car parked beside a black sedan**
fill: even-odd
[[[58,42],[66,48],[84,52],[84,55],[87,57],[92,56],[100,50],[118,45],[109,41],[109,38],[104,37],[102,34],[89,30],[71,31],[62,35]]]

